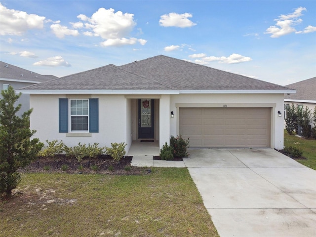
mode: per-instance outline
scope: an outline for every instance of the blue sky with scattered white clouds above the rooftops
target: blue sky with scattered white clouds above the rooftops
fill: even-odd
[[[316,76],[316,2],[0,0],[0,59],[58,77],[160,54],[280,85]]]

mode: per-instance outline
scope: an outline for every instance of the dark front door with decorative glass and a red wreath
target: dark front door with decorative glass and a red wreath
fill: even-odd
[[[154,138],[154,99],[138,99],[138,138]]]

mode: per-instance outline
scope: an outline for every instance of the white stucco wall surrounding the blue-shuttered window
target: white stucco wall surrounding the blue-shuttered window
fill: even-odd
[[[59,133],[59,98],[88,98],[80,95],[31,95],[30,106],[34,108],[31,114],[31,129],[37,130],[35,137],[41,142],[45,140],[63,140],[67,146],[78,143],[93,144],[110,147],[114,142],[125,142],[130,145],[127,137],[127,101],[124,95],[90,95],[99,98],[99,132],[98,133]],[[128,115],[130,117],[130,113]],[[130,119],[130,118],[129,118]],[[81,134],[81,135],[80,135]],[[83,135],[84,136],[83,136]]]

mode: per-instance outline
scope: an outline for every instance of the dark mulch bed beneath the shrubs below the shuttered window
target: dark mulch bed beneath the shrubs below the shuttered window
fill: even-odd
[[[140,175],[145,174],[144,167],[130,166],[132,157],[121,158],[116,162],[108,155],[101,155],[97,158],[83,158],[79,162],[76,158],[68,158],[65,155],[58,155],[53,158],[39,158],[30,165],[20,169],[22,173],[106,173],[116,175]],[[80,164],[83,169],[79,170]],[[62,170],[64,168],[64,170]],[[66,169],[66,170],[65,170]]]

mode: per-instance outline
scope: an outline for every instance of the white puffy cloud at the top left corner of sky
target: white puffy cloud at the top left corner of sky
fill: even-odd
[[[42,29],[44,16],[8,9],[0,3],[0,35],[21,36],[31,29]]]

